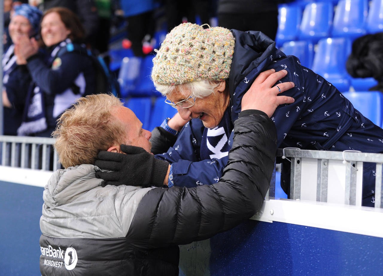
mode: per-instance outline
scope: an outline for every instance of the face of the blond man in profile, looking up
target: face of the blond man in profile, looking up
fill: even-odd
[[[142,147],[144,150],[150,153],[152,144],[149,142],[149,139],[152,137],[152,133],[142,128],[142,123],[136,117],[133,111],[124,106],[119,106],[118,108],[111,111],[111,113],[113,116],[119,119],[124,126],[126,126],[124,137],[125,144]],[[119,150],[119,152],[122,153],[121,150]]]

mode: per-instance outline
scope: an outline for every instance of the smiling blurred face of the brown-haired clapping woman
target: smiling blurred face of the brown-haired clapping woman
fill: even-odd
[[[56,12],[48,13],[41,21],[41,38],[47,47],[65,40],[69,34],[70,31]]]

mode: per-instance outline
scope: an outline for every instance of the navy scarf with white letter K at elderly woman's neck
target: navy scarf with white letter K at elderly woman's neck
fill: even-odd
[[[228,140],[233,129],[231,122],[230,108],[223,114],[218,126],[208,129],[205,128],[201,142],[201,160],[221,159],[229,154]]]

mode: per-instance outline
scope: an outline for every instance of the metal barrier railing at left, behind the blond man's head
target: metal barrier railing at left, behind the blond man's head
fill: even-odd
[[[53,138],[0,136],[2,166],[56,171],[61,168]]]

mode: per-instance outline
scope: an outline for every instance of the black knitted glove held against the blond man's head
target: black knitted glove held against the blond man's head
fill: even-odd
[[[141,147],[121,145],[126,154],[101,151],[95,161],[95,166],[112,172],[96,171],[96,177],[102,178],[102,186],[130,185],[162,187],[169,163],[155,159]]]

